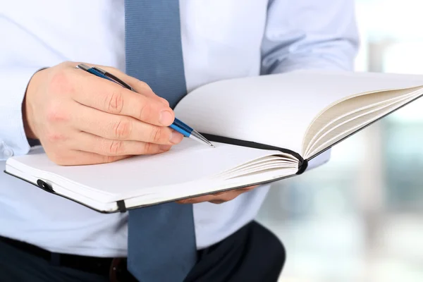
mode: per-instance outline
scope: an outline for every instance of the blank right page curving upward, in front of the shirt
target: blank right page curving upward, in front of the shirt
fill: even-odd
[[[300,153],[309,124],[321,110],[353,94],[423,85],[423,76],[296,71],[222,80],[197,88],[176,116],[202,133]]]

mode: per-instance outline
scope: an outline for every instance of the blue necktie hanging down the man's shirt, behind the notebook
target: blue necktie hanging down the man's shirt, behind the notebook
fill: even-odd
[[[126,73],[171,107],[186,94],[178,0],[125,0],[125,51]],[[139,281],[182,282],[196,255],[192,204],[129,211],[128,270]]]

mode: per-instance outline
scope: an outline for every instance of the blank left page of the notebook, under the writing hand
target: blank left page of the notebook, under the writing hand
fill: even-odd
[[[114,199],[118,195],[142,195],[166,185],[211,178],[245,162],[279,153],[216,142],[214,145],[216,148],[185,138],[169,152],[132,157],[111,164],[58,166],[46,154],[39,153],[13,157],[8,160],[8,165],[34,176],[37,171],[43,175],[52,173],[65,181],[63,187],[69,186],[66,181],[76,184],[72,188],[74,192],[90,195],[90,192],[99,190]]]

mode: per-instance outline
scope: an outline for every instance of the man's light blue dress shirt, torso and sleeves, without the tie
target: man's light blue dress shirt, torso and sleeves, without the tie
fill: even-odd
[[[224,78],[353,67],[353,0],[180,0],[180,15],[188,91]],[[123,0],[2,2],[1,171],[8,157],[30,151],[21,104],[32,74],[61,61],[124,70],[124,36]],[[224,204],[195,204],[197,247],[254,219],[268,189],[264,185]],[[0,235],[54,252],[125,256],[127,216],[99,214],[0,173]]]

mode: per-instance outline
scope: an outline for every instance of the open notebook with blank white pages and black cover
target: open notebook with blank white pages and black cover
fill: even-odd
[[[99,212],[268,183],[304,172],[336,143],[421,97],[421,85],[417,75],[314,71],[222,80],[175,109],[215,149],[185,138],[164,154],[58,166],[39,148],[8,159],[6,173]]]

